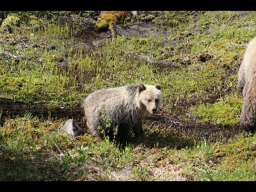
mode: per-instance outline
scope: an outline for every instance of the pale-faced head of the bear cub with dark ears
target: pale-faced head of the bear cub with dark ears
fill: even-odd
[[[138,101],[140,108],[144,108],[149,113],[156,113],[157,108],[163,104],[163,95],[159,84],[138,84]]]

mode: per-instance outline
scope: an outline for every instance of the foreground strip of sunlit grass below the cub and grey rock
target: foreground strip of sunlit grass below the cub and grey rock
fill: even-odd
[[[255,180],[255,135],[228,142],[195,141],[180,150],[59,132],[65,120],[26,115],[8,119],[1,133],[1,180]],[[115,174],[114,174],[115,173]]]

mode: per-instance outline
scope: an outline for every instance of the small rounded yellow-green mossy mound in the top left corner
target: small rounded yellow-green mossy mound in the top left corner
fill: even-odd
[[[20,18],[15,13],[10,13],[7,15],[6,19],[3,20],[1,24],[1,31],[13,32],[14,28],[20,27]]]

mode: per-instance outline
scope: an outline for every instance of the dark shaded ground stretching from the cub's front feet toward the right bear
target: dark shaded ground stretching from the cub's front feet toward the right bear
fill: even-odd
[[[241,129],[239,125],[219,126],[212,123],[200,123],[193,120],[184,122],[173,116],[161,116],[157,118],[148,118],[146,120],[146,134],[143,138],[136,139],[130,137],[127,144],[140,145],[143,144],[148,148],[191,148],[201,141],[214,143],[216,141],[227,142],[230,138],[234,138],[240,133],[248,133]],[[167,134],[162,134],[161,130],[156,131],[156,127],[165,129]],[[150,129],[151,128],[151,129]]]

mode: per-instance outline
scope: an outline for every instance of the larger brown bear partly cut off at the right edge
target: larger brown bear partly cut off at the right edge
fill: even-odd
[[[238,72],[237,87],[243,93],[240,124],[244,129],[255,130],[256,125],[256,37],[248,44]]]

